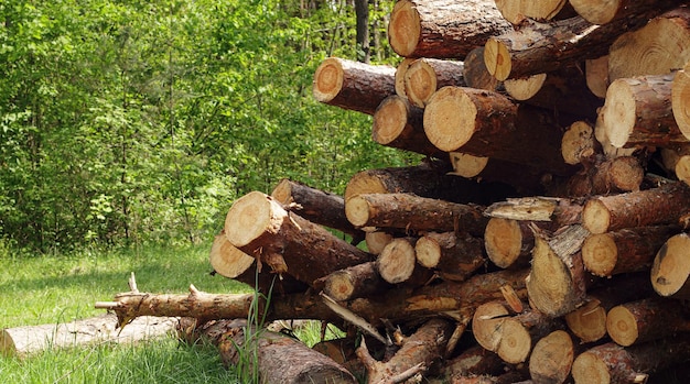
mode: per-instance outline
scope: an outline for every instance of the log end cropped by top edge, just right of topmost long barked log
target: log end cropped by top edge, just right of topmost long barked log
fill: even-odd
[[[503,17],[515,25],[526,18],[535,20],[562,19],[561,13],[572,15],[572,8],[564,0],[496,0],[496,8]]]

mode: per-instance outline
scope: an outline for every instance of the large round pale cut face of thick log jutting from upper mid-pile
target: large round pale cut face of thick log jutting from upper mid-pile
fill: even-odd
[[[470,141],[477,108],[461,87],[443,87],[424,109],[424,132],[439,150],[452,152]]]

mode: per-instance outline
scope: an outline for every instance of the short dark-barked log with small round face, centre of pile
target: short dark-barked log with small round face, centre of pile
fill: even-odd
[[[462,282],[486,265],[482,242],[463,233],[430,232],[414,244],[417,262],[443,279]]]

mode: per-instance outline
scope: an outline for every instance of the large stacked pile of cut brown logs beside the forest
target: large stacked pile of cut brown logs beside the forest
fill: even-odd
[[[158,312],[337,325],[315,350],[368,383],[642,383],[689,361],[683,3],[399,0],[401,64],[327,58],[314,96],[425,161],[343,196],[284,179],[239,198],[211,262],[270,299]],[[105,307],[125,321],[150,299]]]

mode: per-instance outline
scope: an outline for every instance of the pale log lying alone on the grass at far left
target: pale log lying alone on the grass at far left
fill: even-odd
[[[4,328],[0,331],[0,355],[24,359],[51,349],[136,343],[174,333],[176,326],[175,317],[142,316],[120,328],[117,317],[107,314],[64,323]]]

